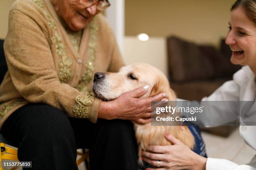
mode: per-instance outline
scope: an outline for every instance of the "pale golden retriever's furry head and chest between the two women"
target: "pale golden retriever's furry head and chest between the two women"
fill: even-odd
[[[93,85],[95,95],[103,100],[113,100],[121,94],[143,85],[149,85],[149,88],[141,98],[165,92],[165,98],[168,100],[176,101],[177,99],[165,75],[148,64],[128,65],[122,67],[117,73],[105,72],[104,75],[104,79],[95,81]],[[149,145],[171,145],[164,138],[166,133],[174,135],[192,149],[195,143],[194,137],[186,126],[183,127],[182,130],[180,126],[151,126],[150,122],[145,125],[134,123],[136,140],[139,146],[139,163],[142,163],[141,150],[147,150]]]

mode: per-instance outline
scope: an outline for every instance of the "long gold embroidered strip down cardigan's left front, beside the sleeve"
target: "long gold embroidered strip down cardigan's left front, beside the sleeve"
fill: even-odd
[[[41,7],[48,19],[49,26],[55,31],[55,36],[51,38],[51,41],[55,44],[56,53],[61,57],[59,59],[60,72],[58,74],[61,83],[67,83],[67,81],[72,77],[72,71],[69,68],[72,65],[72,59],[68,58],[66,55],[66,47],[62,43],[61,35],[57,32],[57,26],[51,15],[44,9],[44,4],[41,0],[33,0],[39,7]]]

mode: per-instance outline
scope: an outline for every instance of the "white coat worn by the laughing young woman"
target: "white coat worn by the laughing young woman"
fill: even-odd
[[[244,66],[233,75],[233,80],[225,82],[209,97],[208,101],[255,101],[256,85],[255,75],[248,66]],[[219,112],[221,118],[229,118],[225,112]],[[208,120],[218,121],[218,117]],[[208,122],[209,123],[209,122]],[[240,126],[240,135],[245,142],[256,150],[256,126]],[[256,157],[248,165],[237,165],[229,160],[208,158],[206,170],[256,170]]]

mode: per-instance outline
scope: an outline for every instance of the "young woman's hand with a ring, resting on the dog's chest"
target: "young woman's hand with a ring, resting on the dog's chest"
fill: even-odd
[[[146,170],[205,170],[207,158],[194,153],[172,135],[166,134],[165,138],[173,145],[151,145],[142,152],[142,159],[153,166],[157,167],[157,161],[160,160],[161,168]]]

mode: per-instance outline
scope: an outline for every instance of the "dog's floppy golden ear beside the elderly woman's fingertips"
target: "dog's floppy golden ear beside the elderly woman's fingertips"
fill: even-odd
[[[158,77],[158,80],[156,80],[156,84],[152,88],[149,96],[154,96],[161,92],[166,94],[165,98],[169,101],[176,101],[177,97],[175,92],[171,89],[169,81],[166,78]]]

